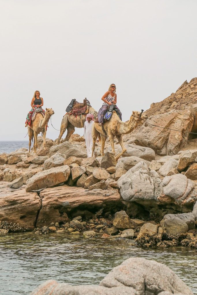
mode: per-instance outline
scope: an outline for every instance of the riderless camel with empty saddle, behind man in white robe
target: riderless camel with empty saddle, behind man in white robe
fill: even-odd
[[[87,102],[89,103],[88,100],[87,100]],[[64,141],[69,141],[69,138],[71,137],[71,135],[75,131],[75,127],[76,128],[83,128],[84,127],[84,123],[85,123],[87,114],[73,116],[71,113],[72,113],[72,111],[68,112],[66,115],[64,115],[64,117],[61,121],[60,134],[57,139],[57,144],[60,143],[61,137],[63,136],[66,129],[67,129],[67,135],[66,135]],[[88,113],[92,114],[94,119],[96,119],[97,111],[95,111],[95,109],[93,109],[92,106],[90,106],[90,105],[89,105],[89,112]]]

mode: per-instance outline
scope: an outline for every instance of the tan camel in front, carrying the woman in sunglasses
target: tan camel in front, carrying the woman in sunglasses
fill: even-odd
[[[141,115],[141,116],[140,116]],[[141,113],[138,111],[133,111],[129,121],[122,122],[115,111],[111,116],[110,120],[106,120],[104,122],[103,127],[101,127],[98,123],[93,124],[92,126],[92,138],[93,138],[93,148],[92,148],[92,157],[95,150],[95,142],[97,137],[101,140],[101,149],[100,153],[101,156],[104,156],[104,148],[105,148],[105,140],[109,136],[110,144],[112,148],[112,153],[115,155],[115,148],[114,148],[114,136],[118,139],[118,142],[121,145],[122,151],[118,155],[116,155],[115,160],[117,161],[120,156],[126,152],[126,147],[124,146],[122,134],[128,134],[136,129],[139,122],[142,119],[148,119],[148,116],[145,113]]]

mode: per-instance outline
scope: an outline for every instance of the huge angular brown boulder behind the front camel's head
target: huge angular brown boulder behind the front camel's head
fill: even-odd
[[[152,148],[158,155],[175,155],[187,143],[189,133],[186,132],[191,131],[193,122],[193,115],[187,110],[171,110],[165,114],[150,116],[136,134],[136,143]]]

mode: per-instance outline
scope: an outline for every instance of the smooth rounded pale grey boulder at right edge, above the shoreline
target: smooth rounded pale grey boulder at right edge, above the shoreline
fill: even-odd
[[[195,183],[183,174],[166,176],[162,186],[164,194],[175,199],[178,203],[190,203],[196,198]]]

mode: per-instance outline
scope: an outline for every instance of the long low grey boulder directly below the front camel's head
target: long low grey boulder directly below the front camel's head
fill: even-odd
[[[125,147],[126,152],[123,153],[123,157],[135,156],[147,161],[152,161],[155,159],[155,152],[152,148],[142,147],[140,145],[135,144],[128,144],[125,145]],[[121,147],[119,147],[116,153],[120,153],[121,150]]]

